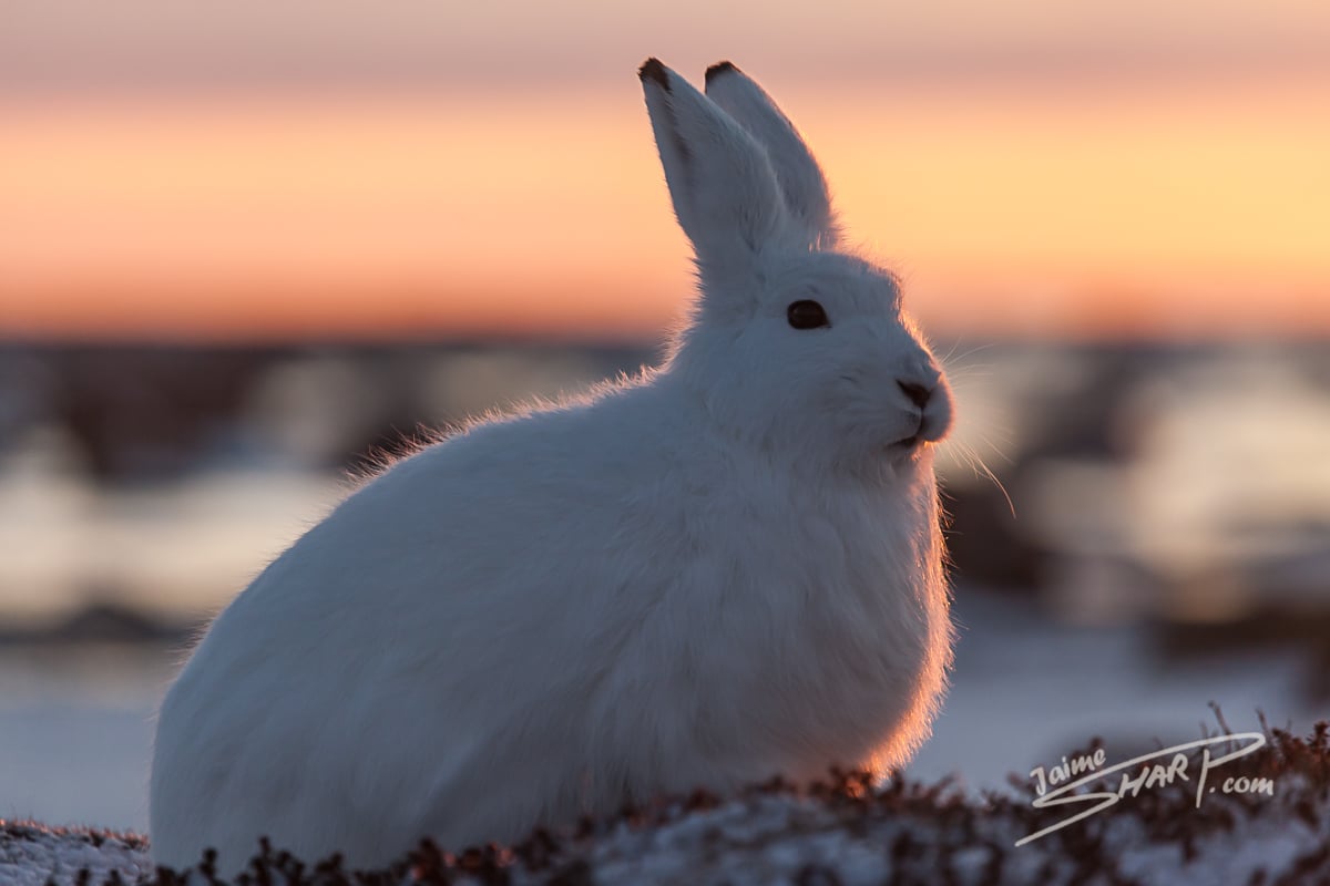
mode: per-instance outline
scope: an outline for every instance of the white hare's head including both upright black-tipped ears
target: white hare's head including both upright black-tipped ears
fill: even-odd
[[[640,70],[701,299],[672,372],[729,432],[831,469],[900,469],[952,421],[936,359],[890,272],[839,248],[826,179],[771,98],[729,62],[706,94]]]

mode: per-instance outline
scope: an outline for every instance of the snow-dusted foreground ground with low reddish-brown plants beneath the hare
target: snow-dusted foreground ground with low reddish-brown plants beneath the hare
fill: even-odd
[[[1269,731],[1266,747],[1244,764],[1242,774],[1273,780],[1273,796],[1216,794],[1197,808],[1186,785],[1172,785],[1124,797],[1020,847],[1021,837],[1084,806],[1040,810],[1028,797],[974,800],[946,784],[899,778],[872,789],[866,776],[838,774],[827,786],[773,782],[725,802],[694,794],[561,834],[536,832],[511,847],[451,854],[426,843],[380,871],[348,873],[335,859],[309,865],[265,850],[237,882],[1330,882],[1330,724],[1317,724],[1307,739]],[[0,822],[0,883],[48,882],[168,886],[184,878],[152,870],[141,837]],[[221,881],[205,862],[189,882]]]

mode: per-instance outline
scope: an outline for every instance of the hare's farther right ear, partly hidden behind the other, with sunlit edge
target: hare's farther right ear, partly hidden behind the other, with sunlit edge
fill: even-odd
[[[706,69],[706,97],[766,149],[790,215],[806,228],[810,242],[833,246],[841,228],[831,210],[827,181],[790,118],[751,77],[729,61]]]

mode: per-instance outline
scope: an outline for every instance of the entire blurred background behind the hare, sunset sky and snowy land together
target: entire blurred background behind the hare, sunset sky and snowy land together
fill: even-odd
[[[5,4],[0,817],[144,829],[173,668],[351,472],[658,359],[649,54],[761,80],[947,357],[914,774],[1330,713],[1330,7],[743,5]]]

